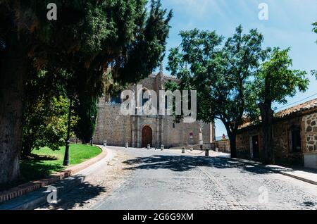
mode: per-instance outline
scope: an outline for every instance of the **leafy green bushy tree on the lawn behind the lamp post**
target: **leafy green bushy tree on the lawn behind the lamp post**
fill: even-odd
[[[58,150],[65,144],[68,108],[69,101],[62,96],[39,98],[27,105],[23,119],[23,156],[30,156],[41,147]]]

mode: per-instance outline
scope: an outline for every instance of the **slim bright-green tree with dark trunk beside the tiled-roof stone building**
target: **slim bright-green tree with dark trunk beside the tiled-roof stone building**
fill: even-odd
[[[275,163],[272,124],[273,124],[273,103],[286,104],[287,97],[294,97],[299,91],[304,92],[308,85],[306,72],[293,70],[292,59],[288,55],[290,49],[273,49],[268,61],[261,65],[259,73],[256,73],[254,90],[252,97],[256,99],[261,114],[261,123],[263,129],[263,162]],[[254,109],[256,111],[256,109]],[[252,113],[254,113],[252,111]]]

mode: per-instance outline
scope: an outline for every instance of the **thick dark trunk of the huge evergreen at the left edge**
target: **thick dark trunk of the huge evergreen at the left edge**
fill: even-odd
[[[19,44],[0,52],[0,184],[20,178],[20,150],[22,148],[23,85],[27,71],[27,57]],[[15,45],[14,45],[15,44]]]

